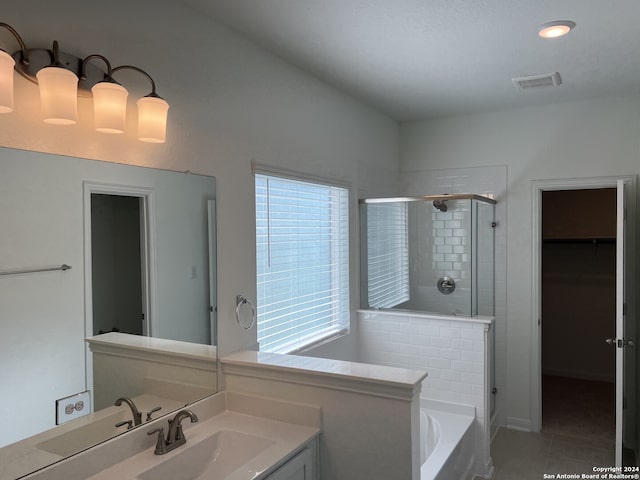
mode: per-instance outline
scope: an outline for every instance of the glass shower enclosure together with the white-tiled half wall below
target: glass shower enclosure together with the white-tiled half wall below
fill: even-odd
[[[357,358],[426,370],[420,398],[428,408],[472,407],[473,441],[446,460],[467,471],[447,478],[491,475],[491,432],[499,423],[495,203],[472,194],[360,200]]]

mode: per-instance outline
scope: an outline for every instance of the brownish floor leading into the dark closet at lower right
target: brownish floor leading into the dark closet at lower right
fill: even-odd
[[[498,431],[491,445],[494,480],[539,480],[545,473],[613,465],[613,385],[545,377],[543,391],[542,433]]]

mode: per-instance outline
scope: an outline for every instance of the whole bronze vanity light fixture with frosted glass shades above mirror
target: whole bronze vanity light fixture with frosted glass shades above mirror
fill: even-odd
[[[6,23],[0,27],[8,30],[20,44],[20,50],[9,54],[0,49],[0,113],[14,109],[14,70],[38,84],[43,119],[54,125],[72,125],[77,122],[78,97],[93,98],[95,128],[103,133],[123,133],[126,123],[126,88],[113,78],[121,70],[134,70],[149,80],[151,93],[140,98],[138,107],[138,139],[143,142],[166,141],[169,104],[156,93],[153,78],[133,65],[112,68],[103,55],[92,54],[80,59],[59,51],[58,42],[51,50],[28,49],[18,32]],[[106,72],[96,67],[92,60],[104,62]]]

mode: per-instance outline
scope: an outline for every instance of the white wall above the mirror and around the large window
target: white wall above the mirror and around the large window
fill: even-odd
[[[3,21],[29,46],[50,48],[57,39],[63,51],[101,53],[154,77],[171,105],[166,144],[141,143],[130,132],[93,132],[87,100],[80,101],[78,125],[44,125],[36,86],[16,78],[16,111],[0,116],[0,145],[215,176],[223,354],[255,343],[255,330],[243,330],[234,318],[237,294],[255,299],[252,159],[349,181],[354,197],[395,190],[395,121],[177,2],[5,0],[2,6]],[[144,79],[127,78],[130,97],[148,93]],[[356,279],[353,274],[354,291]]]

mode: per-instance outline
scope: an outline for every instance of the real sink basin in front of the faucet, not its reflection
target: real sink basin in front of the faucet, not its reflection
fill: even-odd
[[[136,478],[138,480],[224,479],[273,444],[272,440],[255,435],[233,430],[219,430],[195,444],[189,444],[187,440],[187,444],[177,450],[179,453],[170,454],[170,458],[161,461]]]

